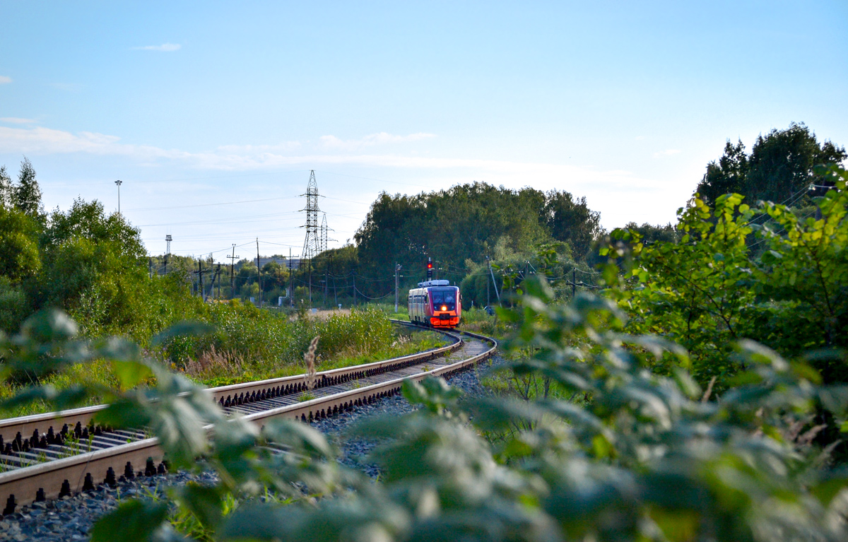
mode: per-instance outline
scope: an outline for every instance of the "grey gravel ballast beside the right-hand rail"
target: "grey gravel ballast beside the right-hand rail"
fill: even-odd
[[[465,394],[480,396],[488,394],[488,390],[480,383],[481,373],[489,366],[503,363],[494,355],[483,361],[479,366],[457,373],[448,378],[455,388],[460,388]],[[368,476],[377,475],[377,467],[361,461],[375,445],[373,442],[361,439],[345,439],[345,432],[366,416],[401,415],[414,410],[400,395],[394,395],[371,405],[362,406],[352,412],[343,412],[311,425],[336,441],[342,448],[340,461],[348,467],[358,468]],[[89,539],[94,522],[104,513],[114,510],[122,500],[137,497],[161,497],[165,489],[171,485],[181,485],[189,481],[199,483],[215,483],[215,474],[202,472],[189,474],[176,472],[173,474],[136,478],[121,482],[116,488],[98,486],[94,491],[64,497],[59,500],[32,503],[20,507],[19,511],[6,517],[0,516],[0,541],[38,540],[39,542],[70,542]]]

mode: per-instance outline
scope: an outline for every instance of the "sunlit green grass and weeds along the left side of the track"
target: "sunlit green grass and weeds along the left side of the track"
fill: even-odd
[[[234,303],[211,306],[201,319],[215,326],[215,332],[203,337],[176,338],[162,348],[147,349],[147,354],[209,387],[303,373],[303,354],[315,335],[321,337],[318,371],[385,360],[446,344],[437,333],[393,326],[382,310],[370,307],[319,319],[305,314],[272,314],[253,305]],[[42,383],[56,388],[80,383],[119,387],[107,361],[70,366],[65,372],[43,377]],[[0,383],[0,400],[28,384]],[[99,402],[95,396],[86,404]],[[0,412],[0,416],[45,411],[49,411],[47,404],[36,401]]]

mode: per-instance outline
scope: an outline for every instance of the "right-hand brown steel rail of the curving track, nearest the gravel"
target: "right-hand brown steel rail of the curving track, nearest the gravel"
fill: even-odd
[[[406,358],[410,356],[367,364],[366,366],[376,369],[385,369],[386,364],[395,362],[393,364],[393,370],[383,371],[377,374],[377,377],[390,377],[383,382],[365,385],[360,388],[343,389],[338,393],[330,393],[323,397],[295,402],[290,405],[272,406],[271,408],[256,411],[243,417],[248,421],[262,426],[265,422],[277,417],[311,422],[315,419],[333,416],[338,414],[338,412],[351,411],[357,406],[371,404],[377,400],[398,394],[406,379],[417,381],[427,376],[448,376],[454,372],[459,372],[476,364],[480,360],[488,358],[488,356],[494,353],[497,347],[497,342],[493,338],[471,332],[460,333],[475,338],[477,341],[488,343],[488,348],[483,347],[480,351],[472,353],[472,355],[466,356],[462,360],[434,363],[434,365],[438,366],[432,369],[424,366],[424,370],[421,370],[420,367],[414,364],[410,365],[406,363],[408,361]],[[438,350],[445,352],[448,351],[445,349],[449,349],[452,352],[455,349],[464,347],[466,349],[472,349],[471,345],[473,344],[479,343],[466,343],[457,340],[454,344]],[[435,351],[437,350],[431,350],[424,354],[432,354]],[[425,356],[424,359],[421,359],[421,357],[416,358],[419,362],[431,359],[432,356]],[[404,361],[397,363],[397,360]],[[365,366],[349,367],[346,369],[359,368],[359,373],[361,373],[362,367]],[[345,372],[342,376],[353,373],[357,372]],[[350,380],[347,382],[350,382]],[[336,384],[328,385],[326,391],[332,391],[330,388],[336,387],[338,387]],[[271,399],[262,402],[273,403],[274,400]],[[211,431],[212,427],[207,427],[207,430]],[[95,479],[103,479],[103,483],[114,484],[116,477],[119,476],[119,472],[124,472],[126,478],[141,475],[142,472],[136,474],[133,465],[145,464],[146,467],[143,473],[148,476],[155,473],[163,473],[165,472],[164,463],[159,463],[159,467],[156,467],[156,463],[162,461],[162,459],[163,451],[159,448],[159,440],[147,438],[131,442],[130,444],[118,444],[103,450],[85,452],[55,461],[47,461],[8,472],[0,472],[0,506],[5,506],[3,513],[10,513],[14,511],[16,506],[29,504],[33,500],[52,499],[63,495],[70,495],[80,490],[94,489],[97,484]],[[92,472],[98,473],[98,478],[92,476]]]

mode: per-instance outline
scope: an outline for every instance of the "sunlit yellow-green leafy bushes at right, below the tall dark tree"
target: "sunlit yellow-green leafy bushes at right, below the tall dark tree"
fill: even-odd
[[[834,188],[816,199],[816,216],[770,203],[751,210],[726,194],[714,209],[694,198],[679,211],[679,241],[646,244],[639,232],[613,232],[601,252],[611,257],[609,294],[631,316],[628,330],[683,344],[703,383],[719,377],[723,386],[739,369],[728,357],[739,338],[790,358],[832,349],[812,363],[826,382],[848,381],[845,354],[833,350],[848,347],[846,173],[833,166],[817,175]]]

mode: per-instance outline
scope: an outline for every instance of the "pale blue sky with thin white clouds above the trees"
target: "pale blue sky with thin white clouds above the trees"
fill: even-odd
[[[728,137],[848,144],[845,2],[120,4],[0,2],[0,165],[47,209],[121,179],[153,254],[298,254],[310,170],[338,246],[381,191],[564,189],[611,229],[673,221]]]

